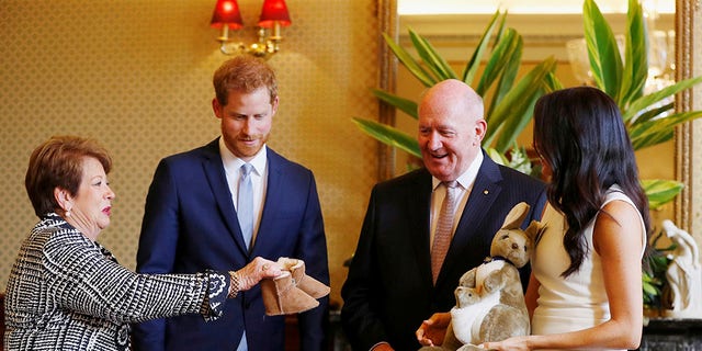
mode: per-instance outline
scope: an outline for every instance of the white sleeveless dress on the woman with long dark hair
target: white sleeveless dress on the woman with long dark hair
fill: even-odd
[[[614,200],[625,201],[636,207],[618,185],[612,185],[608,190],[602,206]],[[638,217],[642,228],[645,228],[641,214]],[[547,224],[547,229],[543,233],[531,258],[532,272],[541,283],[537,307],[532,318],[532,335],[581,330],[610,319],[610,307],[602,278],[602,261],[592,246],[596,218],[590,220],[584,229],[589,252],[580,270],[563,279],[561,273],[570,263],[570,258],[563,247],[567,224],[559,212],[551,205],[546,206],[542,223]],[[642,242],[646,242],[644,230],[632,233],[632,235],[641,236]]]

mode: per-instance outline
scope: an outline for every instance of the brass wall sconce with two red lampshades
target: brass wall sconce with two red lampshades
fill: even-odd
[[[229,37],[229,30],[236,31],[244,27],[239,4],[236,0],[217,0],[211,25],[215,29],[222,29],[222,36],[217,38],[222,53],[226,55],[251,54],[268,58],[278,53],[280,48],[279,44],[283,39],[281,26],[288,26],[291,23],[284,0],[265,0],[258,23],[258,43],[249,46],[242,42],[234,43]],[[271,35],[268,35],[269,30],[272,30]]]

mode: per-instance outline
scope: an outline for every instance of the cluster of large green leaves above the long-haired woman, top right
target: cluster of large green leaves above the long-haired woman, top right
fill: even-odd
[[[656,106],[671,95],[701,83],[702,76],[644,95],[648,78],[648,43],[643,9],[637,0],[629,0],[623,61],[612,29],[593,0],[585,0],[582,13],[595,83],[619,105],[634,149],[668,141],[676,126],[702,116],[702,111],[675,112],[672,103]]]

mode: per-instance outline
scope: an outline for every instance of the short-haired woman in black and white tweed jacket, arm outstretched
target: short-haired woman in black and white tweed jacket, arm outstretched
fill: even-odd
[[[95,141],[53,137],[30,157],[25,186],[38,224],[7,287],[4,350],[126,350],[129,324],[182,314],[207,320],[281,268],[262,258],[236,272],[136,274],[95,240],[110,225],[112,160]]]

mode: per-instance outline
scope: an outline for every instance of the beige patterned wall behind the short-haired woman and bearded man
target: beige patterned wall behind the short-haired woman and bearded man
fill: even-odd
[[[227,57],[210,27],[215,2],[0,0],[0,288],[36,223],[23,186],[29,155],[56,134],[94,137],[112,152],[117,196],[99,240],[134,268],[158,160],[218,135],[212,73]],[[246,24],[261,3],[239,0]],[[287,5],[293,25],[270,59],[281,95],[270,146],[315,172],[338,302],[376,177],[376,144],[350,121],[377,115],[376,1]]]

